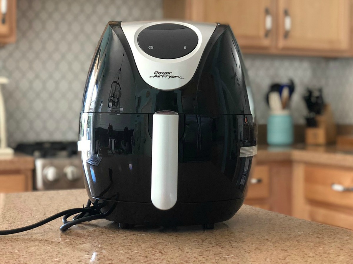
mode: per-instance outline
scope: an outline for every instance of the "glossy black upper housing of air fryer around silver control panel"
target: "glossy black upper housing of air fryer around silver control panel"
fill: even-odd
[[[111,23],[92,60],[82,112],[251,114],[230,28],[217,26],[209,43],[189,83],[178,90],[157,90],[139,75],[120,23]]]

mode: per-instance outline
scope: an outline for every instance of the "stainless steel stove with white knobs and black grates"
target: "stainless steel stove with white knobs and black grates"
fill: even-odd
[[[84,188],[76,142],[26,143],[19,144],[15,150],[34,156],[36,190]]]

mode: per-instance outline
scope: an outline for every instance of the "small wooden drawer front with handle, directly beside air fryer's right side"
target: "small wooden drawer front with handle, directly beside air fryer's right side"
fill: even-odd
[[[247,199],[264,199],[269,197],[269,165],[256,165],[248,183]]]

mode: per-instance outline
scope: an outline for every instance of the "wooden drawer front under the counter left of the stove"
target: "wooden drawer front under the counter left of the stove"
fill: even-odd
[[[24,174],[0,174],[0,193],[19,193],[27,190]]]

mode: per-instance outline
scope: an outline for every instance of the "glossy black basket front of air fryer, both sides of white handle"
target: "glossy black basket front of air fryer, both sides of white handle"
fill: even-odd
[[[82,140],[90,140],[82,151],[90,195],[150,202],[152,115],[84,113],[82,119]],[[251,115],[179,119],[178,202],[243,197],[251,157],[239,158],[239,148],[255,145]]]

